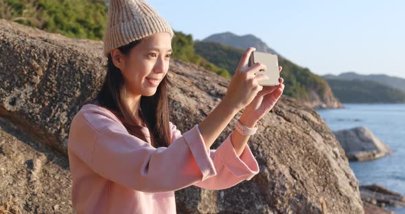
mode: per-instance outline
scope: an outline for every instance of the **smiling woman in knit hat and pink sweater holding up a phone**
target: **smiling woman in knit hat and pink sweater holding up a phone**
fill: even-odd
[[[173,36],[167,21],[145,1],[109,2],[106,80],[69,131],[76,213],[176,213],[178,189],[226,189],[259,172],[246,143],[281,96],[282,78],[279,86],[259,86],[266,76],[254,73],[266,67],[248,67],[255,49],[246,49],[224,99],[181,134],[169,121],[166,95]],[[210,150],[243,108],[239,132]]]

